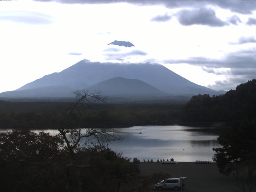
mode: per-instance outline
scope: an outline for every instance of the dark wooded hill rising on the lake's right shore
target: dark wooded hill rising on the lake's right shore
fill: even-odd
[[[233,122],[234,120],[255,120],[256,80],[240,84],[236,90],[224,95],[193,96],[182,112],[182,122]]]

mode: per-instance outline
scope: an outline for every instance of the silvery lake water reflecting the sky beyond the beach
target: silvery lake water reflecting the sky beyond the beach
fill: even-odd
[[[204,128],[188,126],[135,126],[130,128],[116,128],[118,136],[124,140],[117,140],[109,144],[116,152],[123,156],[138,158],[139,160],[170,159],[176,161],[212,160],[212,148],[220,147],[218,135],[205,132]],[[0,130],[3,132],[3,130]],[[6,130],[5,130],[6,131]],[[40,130],[34,130],[38,132]],[[56,130],[44,130],[52,135]],[[83,129],[82,132],[85,132]],[[142,134],[139,134],[141,132]]]

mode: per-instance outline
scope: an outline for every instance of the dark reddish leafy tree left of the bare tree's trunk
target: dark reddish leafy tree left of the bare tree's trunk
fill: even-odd
[[[2,191],[64,190],[66,152],[58,136],[28,130],[0,134]]]

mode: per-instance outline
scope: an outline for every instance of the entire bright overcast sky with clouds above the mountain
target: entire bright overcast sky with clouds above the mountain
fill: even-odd
[[[104,3],[104,4],[103,4]],[[0,92],[86,58],[163,64],[229,90],[256,78],[256,1],[0,1]],[[130,41],[135,47],[110,45]]]

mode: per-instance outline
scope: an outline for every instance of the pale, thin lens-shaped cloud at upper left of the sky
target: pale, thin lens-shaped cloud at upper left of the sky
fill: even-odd
[[[0,20],[26,24],[51,24],[52,18],[46,14],[27,11],[0,12]]]

